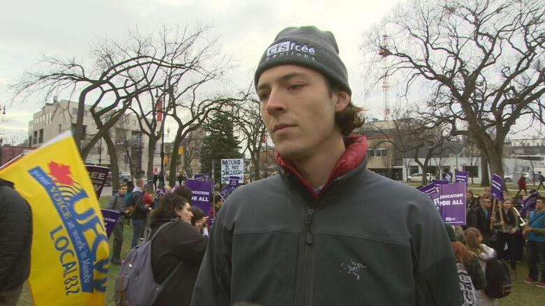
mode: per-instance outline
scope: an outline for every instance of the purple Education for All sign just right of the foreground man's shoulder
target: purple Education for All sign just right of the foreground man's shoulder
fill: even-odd
[[[439,197],[433,199],[433,203],[443,222],[451,225],[465,225],[465,183],[441,185]]]

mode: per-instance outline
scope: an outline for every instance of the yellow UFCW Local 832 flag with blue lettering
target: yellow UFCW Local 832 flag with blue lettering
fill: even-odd
[[[32,208],[34,305],[103,305],[109,247],[99,201],[71,133],[0,170]]]

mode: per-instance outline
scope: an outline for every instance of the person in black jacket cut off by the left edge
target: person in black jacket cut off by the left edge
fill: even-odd
[[[30,275],[31,244],[31,208],[12,182],[0,178],[0,305],[17,305]]]

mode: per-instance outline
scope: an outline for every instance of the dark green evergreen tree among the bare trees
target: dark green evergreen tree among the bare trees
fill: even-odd
[[[233,121],[228,114],[216,112],[205,123],[206,136],[201,146],[201,173],[210,174],[215,160],[215,183],[221,183],[221,159],[240,158],[238,137],[233,134]]]

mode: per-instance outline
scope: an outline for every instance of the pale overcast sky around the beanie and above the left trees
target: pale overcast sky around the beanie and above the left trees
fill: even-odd
[[[2,1],[0,18],[0,105],[8,85],[31,71],[40,54],[85,59],[92,40],[119,38],[138,26],[151,31],[161,24],[212,23],[226,54],[238,63],[231,79],[247,86],[262,52],[287,26],[315,25],[332,31],[349,70],[356,104],[379,118],[382,94],[363,99],[358,89],[361,34],[382,20],[398,1],[194,1],[194,0],[19,0]],[[59,100],[68,97],[59,97]],[[27,135],[28,122],[45,101],[7,104],[0,130]],[[50,101],[49,101],[50,102]]]

